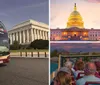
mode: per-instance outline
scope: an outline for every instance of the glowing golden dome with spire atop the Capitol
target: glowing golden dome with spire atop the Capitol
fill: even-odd
[[[70,14],[67,22],[67,28],[78,27],[84,29],[84,22],[80,13],[77,11],[76,3],[74,5],[74,11]]]

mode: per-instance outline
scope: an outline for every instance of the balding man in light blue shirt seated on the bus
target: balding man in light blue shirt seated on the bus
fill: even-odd
[[[99,78],[95,77],[96,66],[93,62],[88,62],[85,65],[84,73],[85,76],[76,81],[76,85],[85,85],[88,81],[100,81]]]

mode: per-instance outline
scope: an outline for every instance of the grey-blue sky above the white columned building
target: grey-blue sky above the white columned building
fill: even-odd
[[[29,19],[48,24],[48,3],[48,0],[0,0],[0,21],[7,30]]]

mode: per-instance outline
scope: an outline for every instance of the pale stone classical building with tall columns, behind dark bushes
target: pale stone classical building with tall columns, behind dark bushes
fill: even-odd
[[[48,40],[49,28],[47,24],[32,19],[15,25],[8,31],[10,44],[18,41],[22,45],[30,44],[36,39]]]

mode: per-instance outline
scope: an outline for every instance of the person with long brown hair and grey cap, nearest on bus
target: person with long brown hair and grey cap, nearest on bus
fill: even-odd
[[[73,85],[72,83],[71,71],[67,67],[62,67],[54,79],[54,85]]]

